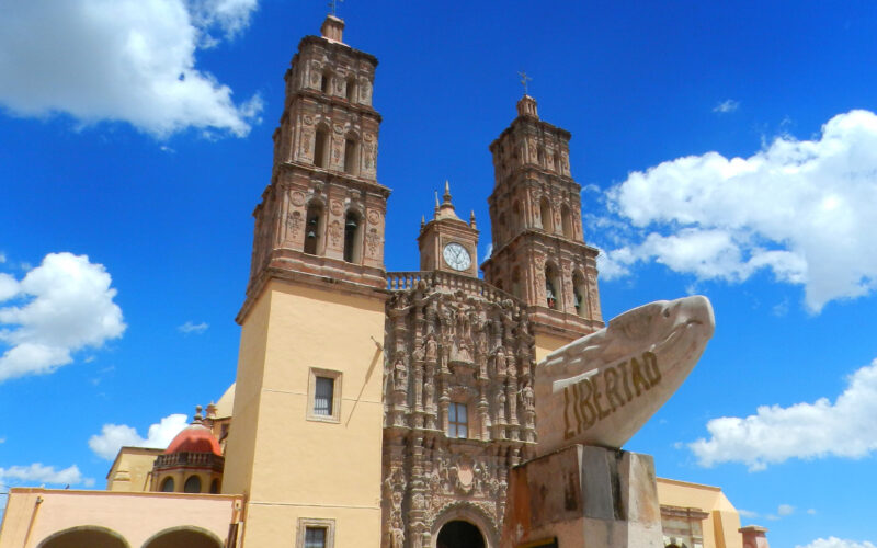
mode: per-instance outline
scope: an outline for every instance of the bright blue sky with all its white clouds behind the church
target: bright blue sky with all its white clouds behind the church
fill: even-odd
[[[283,73],[323,2],[8,2],[0,484],[96,487],[234,380]],[[342,3],[378,57],[386,266],[451,181],[489,247],[517,72],[572,133],[606,319],[691,293],[714,340],[628,447],[774,547],[873,548],[877,4]],[[150,430],[151,426],[151,430]],[[2,489],[2,488],[0,488]]]

